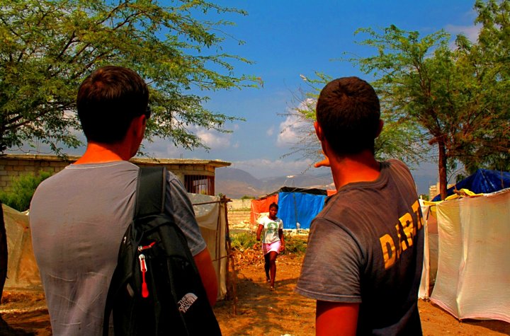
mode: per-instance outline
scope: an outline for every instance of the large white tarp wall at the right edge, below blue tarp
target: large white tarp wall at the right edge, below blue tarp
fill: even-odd
[[[456,318],[510,323],[510,189],[438,203],[431,301]]]

